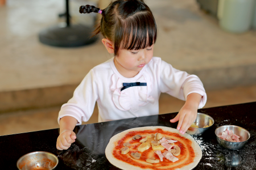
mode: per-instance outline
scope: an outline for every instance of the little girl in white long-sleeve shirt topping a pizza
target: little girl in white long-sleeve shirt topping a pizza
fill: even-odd
[[[117,0],[104,10],[81,6],[80,13],[98,12],[101,23],[94,31],[102,33],[102,43],[114,57],[94,67],[76,88],[72,99],[61,107],[57,149],[66,150],[75,142],[73,129],[88,121],[97,101],[99,122],[150,116],[159,113],[162,92],[185,100],[177,116],[181,134],[204,107],[207,95],[196,75],[174,69],[153,57],[156,23],[150,8],[141,0]]]

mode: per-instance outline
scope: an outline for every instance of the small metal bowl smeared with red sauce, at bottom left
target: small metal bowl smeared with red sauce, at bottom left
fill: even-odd
[[[32,169],[55,169],[59,159],[57,156],[49,152],[31,152],[23,155],[17,162],[19,170],[32,170]]]

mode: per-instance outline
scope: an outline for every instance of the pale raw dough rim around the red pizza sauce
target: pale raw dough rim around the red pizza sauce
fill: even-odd
[[[182,168],[177,168],[177,169],[179,169],[179,170],[190,170],[190,169],[193,169],[193,168],[196,167],[196,165],[200,162],[200,160],[202,158],[202,151],[201,151],[200,146],[195,141],[195,139],[187,133],[180,134],[179,130],[174,129],[174,128],[169,128],[169,127],[166,127],[166,126],[145,126],[145,127],[141,127],[141,128],[132,128],[132,129],[128,129],[128,130],[122,131],[121,133],[118,133],[118,134],[114,135],[112,138],[110,138],[108,146],[106,147],[106,150],[105,150],[106,158],[109,160],[109,162],[111,164],[113,164],[115,167],[118,167],[120,169],[142,170],[142,168],[140,168],[140,167],[136,167],[134,165],[131,165],[129,163],[126,163],[126,162],[123,162],[121,160],[118,160],[118,159],[114,158],[114,155],[112,154],[113,149],[115,148],[114,143],[119,141],[120,139],[122,139],[130,131],[143,131],[143,130],[156,130],[156,129],[162,129],[164,131],[170,131],[172,133],[177,133],[181,137],[185,137],[185,138],[189,139],[190,141],[192,141],[192,148],[195,152],[194,161],[192,163],[188,164],[188,165],[185,165]],[[143,169],[143,170],[152,170],[152,169]]]

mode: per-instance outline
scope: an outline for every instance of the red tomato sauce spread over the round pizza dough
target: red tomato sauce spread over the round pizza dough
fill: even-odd
[[[137,148],[141,143],[139,142],[141,139],[133,140],[131,139],[134,135],[142,135],[145,137],[145,135],[151,135],[155,133],[161,133],[163,137],[170,137],[171,139],[174,139],[178,142],[175,142],[175,145],[180,147],[180,155],[175,156],[179,160],[177,162],[171,162],[170,160],[167,160],[163,158],[163,162],[159,163],[147,163],[146,159],[154,156],[156,159],[159,159],[158,155],[155,154],[155,152],[152,150],[152,147],[150,147],[148,150],[144,152],[139,152]],[[123,143],[129,142],[131,144],[130,151],[128,154],[121,154],[121,148],[123,147]],[[134,165],[136,167],[140,167],[143,169],[150,168],[155,170],[166,170],[166,169],[176,169],[184,167],[185,165],[188,165],[193,162],[195,158],[195,152],[192,148],[192,142],[184,137],[181,137],[177,133],[171,133],[169,131],[163,131],[162,129],[156,129],[156,130],[143,130],[143,131],[130,131],[127,133],[122,139],[120,139],[113,150],[113,156],[121,160],[123,162],[129,163],[131,165]],[[166,151],[166,150],[164,150]],[[162,152],[164,152],[162,151]],[[131,158],[130,154],[131,152],[139,152],[141,154],[141,158],[139,160],[135,160]]]

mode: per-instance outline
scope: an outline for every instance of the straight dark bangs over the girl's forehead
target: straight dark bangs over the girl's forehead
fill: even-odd
[[[156,23],[151,12],[142,11],[118,21],[114,36],[114,53],[121,49],[139,50],[156,42]],[[121,46],[122,41],[122,46]]]

